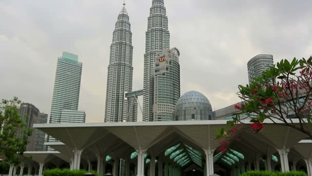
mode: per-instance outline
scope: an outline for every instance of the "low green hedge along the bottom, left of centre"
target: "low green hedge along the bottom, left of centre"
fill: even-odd
[[[70,169],[50,169],[43,171],[44,176],[83,176],[85,173],[93,173],[98,176],[96,171],[86,171],[86,170],[70,170]]]

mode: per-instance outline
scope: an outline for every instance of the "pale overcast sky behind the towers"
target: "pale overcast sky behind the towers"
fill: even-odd
[[[133,33],[133,90],[143,87],[152,0],[126,0]],[[79,55],[79,109],[104,121],[109,46],[123,0],[0,0],[0,99],[19,97],[50,113],[57,57]],[[247,62],[312,55],[312,1],[165,0],[170,46],[181,51],[181,95],[205,94],[213,109],[239,101]]]

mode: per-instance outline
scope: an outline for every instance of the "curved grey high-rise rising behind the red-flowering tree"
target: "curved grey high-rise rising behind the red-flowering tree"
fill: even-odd
[[[274,66],[272,55],[257,55],[250,59],[247,63],[249,84],[271,66]]]

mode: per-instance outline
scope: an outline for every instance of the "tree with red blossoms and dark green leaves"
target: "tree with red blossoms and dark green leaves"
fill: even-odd
[[[240,113],[227,122],[228,128],[218,131],[219,150],[226,151],[229,138],[246,126],[245,119],[252,123],[251,131],[261,131],[264,120],[280,126],[288,126],[305,133],[312,139],[312,57],[308,60],[296,58],[289,62],[282,60],[276,66],[264,71],[250,85],[239,85],[238,96],[242,102],[235,105]],[[294,122],[294,119],[297,119]]]

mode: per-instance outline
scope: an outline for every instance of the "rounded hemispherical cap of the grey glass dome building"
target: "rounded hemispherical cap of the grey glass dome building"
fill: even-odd
[[[199,108],[208,108],[211,110],[211,104],[208,98],[197,91],[190,91],[183,94],[176,105],[177,109],[179,108],[189,108],[189,107],[199,107]]]

